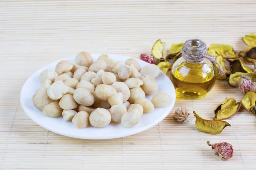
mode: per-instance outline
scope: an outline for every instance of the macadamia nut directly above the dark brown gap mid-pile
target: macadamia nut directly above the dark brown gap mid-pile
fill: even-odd
[[[111,85],[97,85],[95,94],[99,99],[107,101],[110,96],[117,94],[117,92]]]

